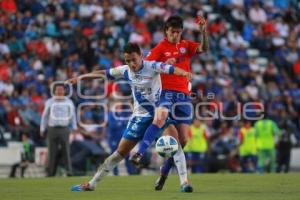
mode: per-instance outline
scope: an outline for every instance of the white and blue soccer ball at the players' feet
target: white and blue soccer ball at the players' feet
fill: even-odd
[[[178,143],[172,136],[161,136],[156,142],[155,149],[160,156],[171,157],[177,152]]]

